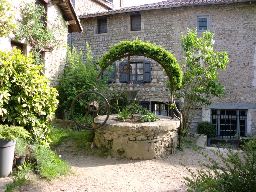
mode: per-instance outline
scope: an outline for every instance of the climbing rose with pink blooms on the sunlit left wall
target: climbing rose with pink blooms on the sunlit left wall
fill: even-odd
[[[15,38],[19,41],[24,39],[27,41],[35,63],[40,65],[42,64],[40,53],[65,46],[64,37],[67,35],[68,23],[62,21],[62,16],[57,16],[47,27],[48,18],[42,20],[42,15],[46,15],[46,11],[34,3],[21,4],[20,12],[22,20],[14,31]]]

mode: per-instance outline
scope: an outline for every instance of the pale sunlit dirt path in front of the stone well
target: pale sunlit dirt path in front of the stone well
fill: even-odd
[[[73,174],[48,182],[37,179],[30,186],[23,186],[19,191],[41,192],[171,192],[185,191],[187,186],[182,184],[183,176],[189,172],[179,164],[185,163],[192,170],[199,167],[198,161],[207,162],[199,153],[185,148],[174,154],[153,160],[129,160],[105,158],[101,159],[80,152],[74,155],[66,146],[60,146],[63,160],[72,166]],[[209,149],[204,152],[212,154]]]

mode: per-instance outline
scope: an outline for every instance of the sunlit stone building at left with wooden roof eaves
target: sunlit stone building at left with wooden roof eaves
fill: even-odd
[[[63,25],[63,28],[65,28],[66,32],[69,33],[82,32],[82,27],[80,25],[80,20],[77,16],[77,14],[74,11],[74,8],[72,6],[72,3],[70,0],[66,1],[60,1],[60,0],[26,0],[23,3],[30,3],[30,2],[36,2],[37,5],[40,5],[44,7],[44,9],[47,12],[47,25],[48,27],[51,27],[54,19],[58,15],[62,15],[63,21],[67,21],[69,23],[69,26],[66,27]],[[20,1],[12,0],[9,2],[12,5],[12,12],[15,13],[15,20],[14,22],[18,22],[21,20],[20,16]],[[46,16],[44,16],[46,18]],[[44,19],[43,18],[43,19]],[[67,44],[68,40],[68,33],[64,36],[63,41]],[[6,50],[10,51],[12,47],[16,47],[18,49],[21,49],[23,51],[23,54],[28,55],[29,52],[29,46],[27,45],[26,41],[17,41],[14,38],[13,34],[8,34],[7,37],[0,38],[0,50]],[[44,68],[45,68],[45,76],[50,79],[50,86],[57,86],[58,84],[58,78],[62,75],[64,65],[66,62],[66,53],[67,49],[65,47],[59,48],[57,50],[53,50],[52,52],[42,52],[42,57],[45,58],[44,60]]]

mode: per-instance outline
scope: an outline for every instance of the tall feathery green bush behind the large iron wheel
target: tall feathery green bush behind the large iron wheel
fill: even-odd
[[[67,119],[71,119],[70,106],[73,99],[81,92],[93,90],[96,78],[99,72],[93,62],[91,47],[86,44],[86,64],[84,65],[83,52],[79,52],[73,46],[72,51],[67,51],[67,63],[64,69],[64,76],[60,77],[60,84],[57,87],[59,91],[58,99],[60,100],[59,108],[68,113]],[[109,74],[109,75],[108,75]],[[97,82],[96,88],[98,92],[105,91],[107,79],[110,76],[108,73],[102,76]],[[104,95],[104,94],[103,94]],[[87,101],[87,95],[84,95],[83,100]],[[73,111],[78,116],[84,116],[87,112],[87,106],[81,103],[76,103]]]

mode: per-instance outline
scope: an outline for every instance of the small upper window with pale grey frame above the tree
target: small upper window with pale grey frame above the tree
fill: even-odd
[[[200,14],[195,14],[196,16],[196,28],[197,28],[197,33],[203,33],[206,30],[211,31],[211,16],[212,13],[200,13]]]

